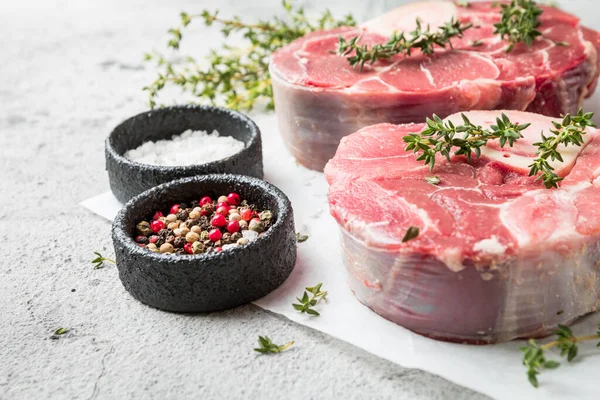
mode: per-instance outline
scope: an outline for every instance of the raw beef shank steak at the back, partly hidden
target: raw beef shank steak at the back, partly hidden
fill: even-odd
[[[434,113],[446,117],[466,110],[555,117],[576,112],[596,85],[600,35],[575,16],[540,5],[543,38],[506,53],[508,43],[493,33],[500,20],[494,3],[499,2],[412,3],[357,28],[309,34],[275,52],[270,64],[275,106],[292,154],[322,170],[342,137],[376,123],[423,122]],[[475,28],[452,41],[454,50],[438,48],[433,56],[415,51],[365,65],[362,72],[334,54],[339,36],[385,43],[394,31],[412,31],[417,17],[433,29],[452,17]]]

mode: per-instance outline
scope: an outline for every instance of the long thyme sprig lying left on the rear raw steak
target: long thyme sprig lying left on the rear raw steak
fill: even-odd
[[[431,55],[434,53],[436,45],[452,48],[450,39],[462,37],[463,33],[472,27],[472,24],[463,24],[454,18],[440,26],[435,32],[432,32],[429,26],[423,29],[418,19],[416,25],[416,29],[408,36],[404,32],[394,32],[387,43],[371,47],[359,44],[361,36],[355,36],[348,40],[340,36],[336,52],[339,56],[346,57],[351,66],[358,65],[362,71],[366,63],[373,64],[378,60],[389,60],[397,54],[410,56],[413,49],[420,49],[423,54]]]

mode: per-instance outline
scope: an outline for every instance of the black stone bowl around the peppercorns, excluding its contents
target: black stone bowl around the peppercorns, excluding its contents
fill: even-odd
[[[138,222],[172,204],[236,192],[273,213],[274,223],[258,239],[220,253],[153,253],[134,241]],[[134,197],[112,227],[119,277],[142,303],[167,311],[210,312],[259,299],[281,285],[296,262],[294,213],[275,186],[241,175],[179,179]]]

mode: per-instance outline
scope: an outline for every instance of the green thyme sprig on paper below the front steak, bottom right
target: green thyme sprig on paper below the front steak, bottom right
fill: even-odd
[[[527,379],[534,387],[539,386],[538,375],[542,369],[557,368],[560,363],[554,360],[547,360],[545,351],[556,347],[560,350],[561,357],[567,357],[567,361],[571,362],[577,357],[577,343],[590,340],[598,340],[596,347],[600,347],[600,325],[595,335],[575,336],[571,328],[565,325],[558,325],[554,332],[556,340],[539,345],[534,339],[529,339],[527,346],[521,347],[523,352],[523,365],[527,367]]]

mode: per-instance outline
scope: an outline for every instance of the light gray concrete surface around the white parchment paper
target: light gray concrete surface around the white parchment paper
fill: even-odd
[[[92,269],[93,251],[112,255],[110,224],[77,203],[107,190],[104,138],[146,107],[141,55],[181,9],[217,2],[86,3],[0,2],[0,399],[483,398],[254,306],[160,312],[114,266]],[[277,2],[219,3],[267,14]],[[197,49],[213,44],[194,32]],[[59,327],[71,331],[50,339]],[[296,345],[260,356],[263,334]]]

